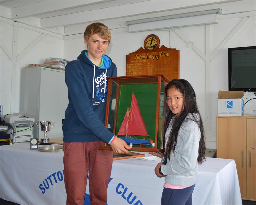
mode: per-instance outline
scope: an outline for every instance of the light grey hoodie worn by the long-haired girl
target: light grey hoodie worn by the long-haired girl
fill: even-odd
[[[199,119],[197,113],[193,113],[193,115]],[[192,114],[188,114],[180,127],[174,154],[171,151],[170,160],[167,159],[166,165],[161,166],[161,172],[166,175],[165,182],[168,184],[192,186],[196,183],[197,157],[201,133],[199,126],[195,121],[192,121],[191,116]],[[165,138],[170,135],[173,119],[167,128]]]

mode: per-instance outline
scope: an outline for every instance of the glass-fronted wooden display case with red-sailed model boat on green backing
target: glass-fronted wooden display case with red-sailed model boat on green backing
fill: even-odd
[[[131,151],[163,152],[164,75],[108,77],[105,126]],[[111,150],[103,143],[99,149]]]

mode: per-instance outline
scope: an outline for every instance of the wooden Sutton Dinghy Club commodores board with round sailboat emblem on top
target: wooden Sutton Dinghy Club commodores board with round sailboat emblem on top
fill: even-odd
[[[126,76],[164,74],[169,80],[179,79],[180,51],[159,45],[160,39],[151,34],[144,40],[145,49],[126,55]]]

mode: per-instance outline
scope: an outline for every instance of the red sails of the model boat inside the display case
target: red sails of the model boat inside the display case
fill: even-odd
[[[125,114],[124,121],[117,135],[126,134],[126,123],[127,123],[127,115],[128,115],[127,112]],[[128,126],[127,126],[127,135],[148,136],[146,126],[141,116],[140,108],[138,106],[138,102],[137,102],[137,99],[135,98],[134,93],[132,93],[132,103],[131,103],[131,111],[130,111]]]

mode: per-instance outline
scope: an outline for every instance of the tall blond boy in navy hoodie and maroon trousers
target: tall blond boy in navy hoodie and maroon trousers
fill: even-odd
[[[102,141],[113,151],[128,153],[130,147],[105,126],[108,91],[106,77],[117,75],[116,65],[104,55],[111,33],[102,23],[92,23],[84,32],[83,50],[65,68],[69,104],[63,122],[64,181],[67,204],[84,204],[87,174],[91,204],[107,203],[112,151],[98,150]]]

